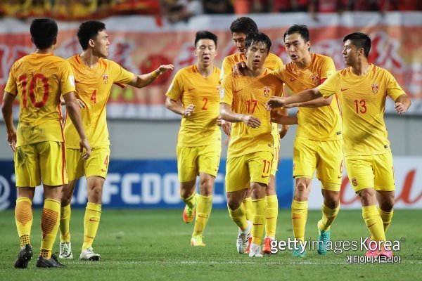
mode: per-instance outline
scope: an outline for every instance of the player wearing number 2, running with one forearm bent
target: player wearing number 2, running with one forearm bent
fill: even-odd
[[[215,67],[217,36],[208,31],[196,33],[195,65],[177,72],[166,93],[165,106],[181,115],[177,137],[177,170],[185,223],[196,220],[192,246],[205,246],[203,231],[212,208],[212,188],[222,151],[221,131],[217,126],[219,68]],[[181,102],[181,104],[178,103]],[[199,195],[196,176],[199,175]]]

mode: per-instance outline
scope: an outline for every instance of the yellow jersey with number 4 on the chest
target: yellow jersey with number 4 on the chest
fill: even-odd
[[[106,122],[106,103],[113,84],[128,84],[134,78],[132,72],[113,62],[100,58],[96,68],[82,63],[79,55],[68,58],[75,72],[77,98],[83,100],[82,123],[92,148],[110,145]],[[66,148],[79,148],[79,136],[72,120],[65,119]]]

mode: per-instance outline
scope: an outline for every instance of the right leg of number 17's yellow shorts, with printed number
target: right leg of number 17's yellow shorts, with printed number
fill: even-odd
[[[273,154],[268,151],[260,151],[246,156],[248,157],[250,182],[268,185]]]

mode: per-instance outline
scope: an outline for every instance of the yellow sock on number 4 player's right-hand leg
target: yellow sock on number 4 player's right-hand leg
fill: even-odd
[[[101,204],[87,203],[84,216],[84,244],[82,251],[92,247],[101,218]]]

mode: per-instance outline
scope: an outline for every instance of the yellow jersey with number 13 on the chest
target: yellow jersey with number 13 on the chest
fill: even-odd
[[[370,70],[359,77],[349,67],[335,72],[318,89],[324,97],[338,96],[345,156],[390,151],[384,123],[385,98],[397,100],[404,94],[390,72],[371,64]]]

